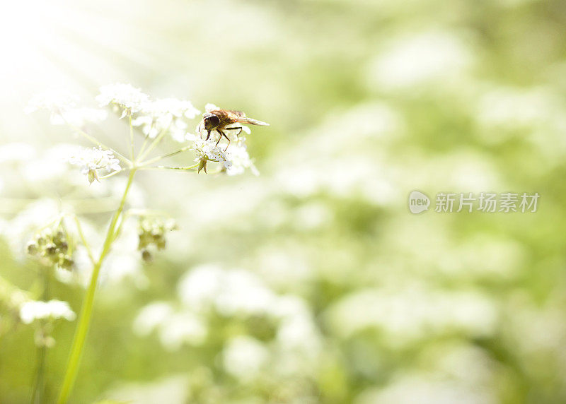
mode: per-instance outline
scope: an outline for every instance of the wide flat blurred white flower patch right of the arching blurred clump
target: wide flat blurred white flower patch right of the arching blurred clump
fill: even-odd
[[[326,313],[328,325],[348,338],[365,328],[379,328],[392,345],[450,331],[490,335],[495,328],[494,302],[478,292],[426,290],[360,290],[343,297]]]

